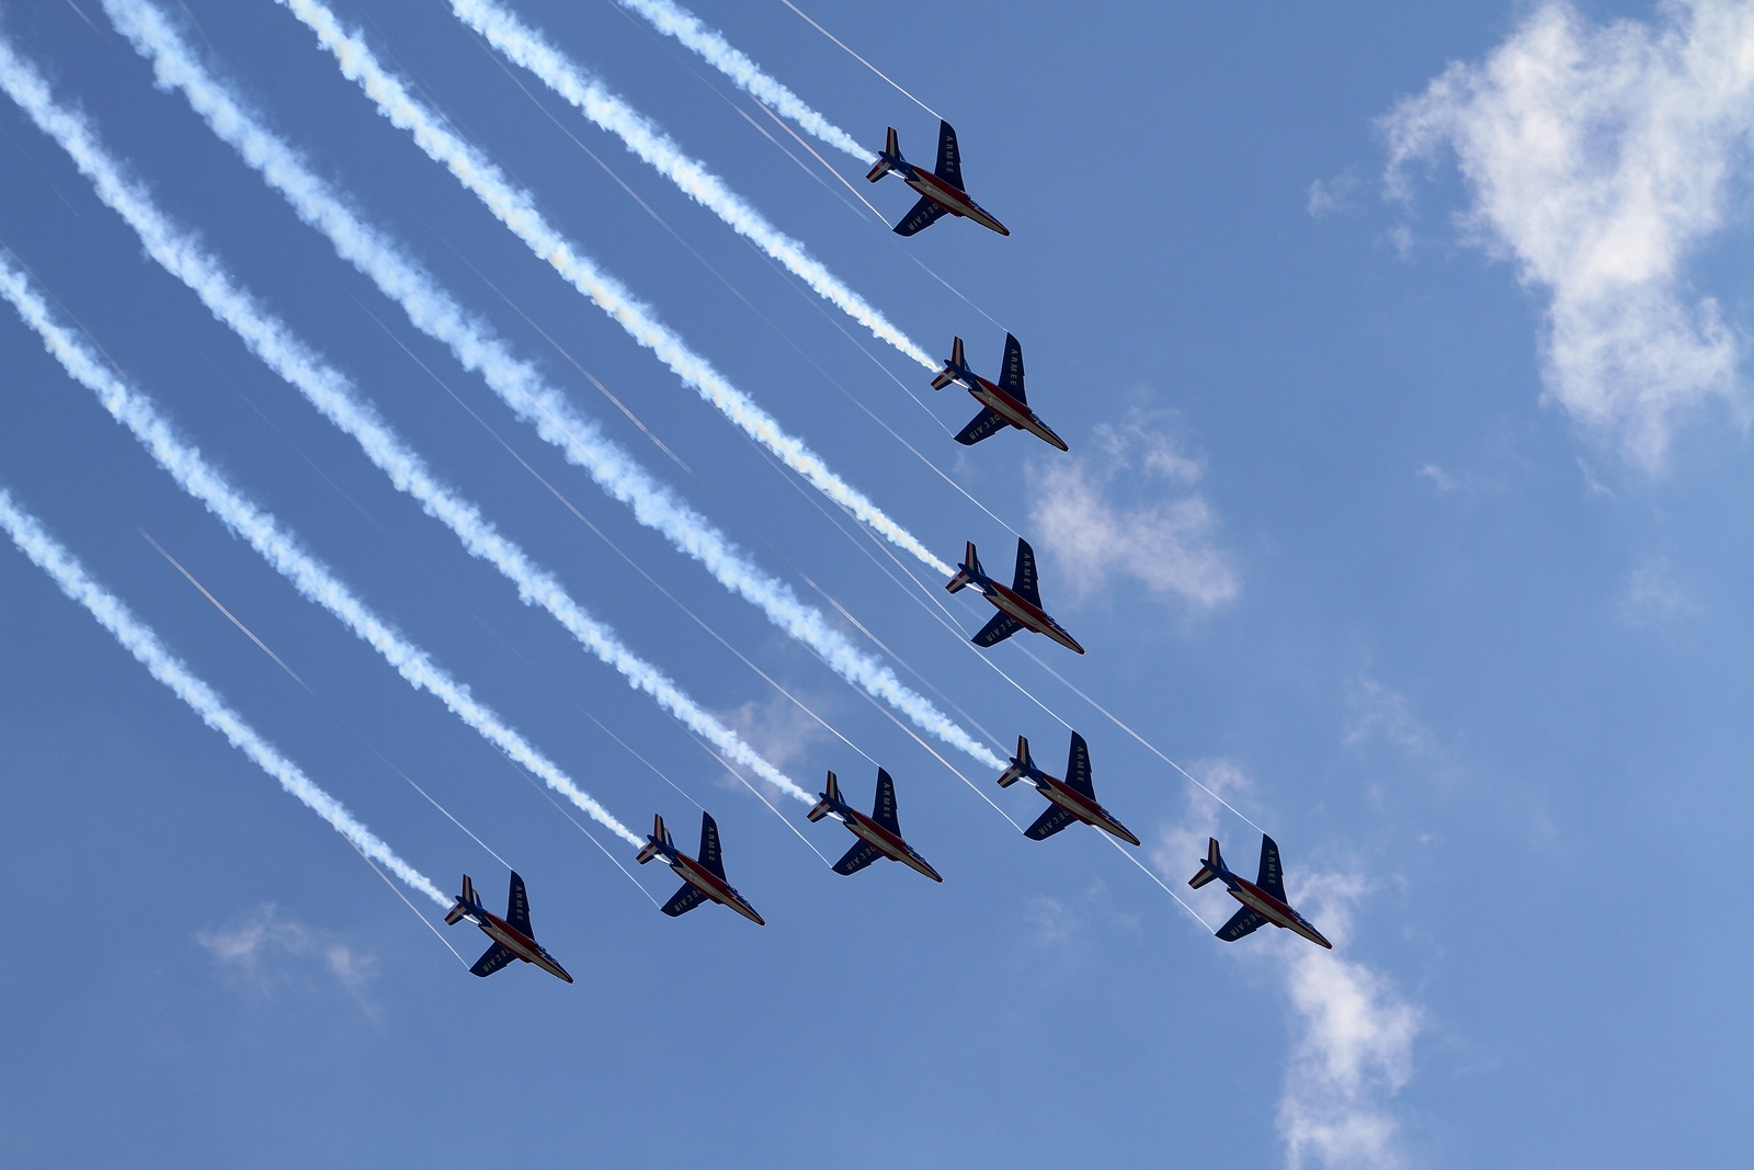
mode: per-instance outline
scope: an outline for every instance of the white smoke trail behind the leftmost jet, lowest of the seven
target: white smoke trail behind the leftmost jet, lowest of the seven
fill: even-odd
[[[328,821],[330,828],[346,837],[365,858],[384,865],[391,874],[440,907],[451,907],[451,898],[438,893],[438,888],[424,874],[398,858],[377,833],[360,824],[347,812],[346,805],[317,788],[310,777],[298,770],[298,765],[277,753],[253,726],[244,723],[240,714],[226,707],[225,700],[210,686],[196,679],[158,640],[158,635],[121,603],[121,598],[93,581],[86,574],[84,565],[54,537],[44,531],[35,516],[18,507],[12,502],[12,493],[5,488],[0,488],[0,528],[5,528],[7,535],[12,537],[12,544],[18,546],[19,553],[54,577],[54,584],[61,586],[61,593],[84,605],[98,619],[98,624],[109,630],[142,667],[153,672],[154,679],[168,686],[177,698],[188,703],[202,717],[202,723],[225,735],[232,747],[249,756],[258,768],[277,779],[281,788]]]

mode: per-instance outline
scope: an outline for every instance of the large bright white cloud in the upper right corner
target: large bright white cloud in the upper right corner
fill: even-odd
[[[1542,377],[1591,435],[1661,470],[1675,423],[1750,417],[1743,342],[1686,263],[1749,177],[1754,7],[1661,5],[1659,26],[1544,4],[1484,63],[1452,63],[1384,119],[1389,193],[1454,149],[1465,228],[1549,295]]]

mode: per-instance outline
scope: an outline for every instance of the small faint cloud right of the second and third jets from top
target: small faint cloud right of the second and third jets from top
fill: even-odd
[[[1123,572],[1198,609],[1233,598],[1237,572],[1212,544],[1217,514],[1191,491],[1205,465],[1140,410],[1121,426],[1098,426],[1094,439],[1091,456],[1054,460],[1031,484],[1030,516],[1044,547],[1073,568],[1065,584],[1087,596],[1107,584],[1105,574]],[[1172,495],[1165,484],[1179,491]],[[1124,507],[1110,498],[1123,486],[1156,498]]]

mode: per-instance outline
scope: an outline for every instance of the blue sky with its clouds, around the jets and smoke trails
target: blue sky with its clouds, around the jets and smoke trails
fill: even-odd
[[[637,16],[516,11],[931,356],[959,335],[991,375],[1016,333],[1070,454],[1017,433],[952,444],[966,395],[935,395],[449,5],[335,12],[937,556],[977,540],[1009,572],[1028,537],[1089,654],[1002,646],[1017,688],[931,617],[938,598],[966,637],[979,598],[891,560],[682,386],[286,7],[168,12],[360,218],[863,653],[1000,754],[1024,733],[1058,768],[1065,724],[1086,735],[1135,856],[1207,926],[1094,830],[1021,838],[640,526],[154,89],[100,0],[14,4],[0,33],[54,100],[444,484],[796,784],[833,768],[863,803],[881,761],[945,882],[830,874],[798,835],[833,860],[844,830],[763,786],[775,816],[521,603],[7,102],[0,244],[60,319],[609,812],[644,833],[660,810],[691,849],[709,807],[770,923],[658,914],[668,872],[635,868],[635,889],[524,770],[182,493],[9,307],[0,486],[440,889],[467,870],[493,905],[505,868],[405,777],[510,861],[577,984],[470,977],[346,840],[7,549],[7,1158],[465,1166],[514,1135],[586,1165],[1738,1165],[1754,11],[802,7],[956,125],[970,189],[1012,237],[947,221],[898,240]],[[935,119],[786,5],[695,11],[859,142],[893,125],[930,160]],[[910,205],[814,146],[891,223]],[[1068,684],[1279,840],[1333,954],[1210,937],[1231,903],[1184,882],[1207,833],[1251,870],[1256,830]],[[1038,812],[928,742],[1016,821]],[[465,961],[484,944],[446,937]]]

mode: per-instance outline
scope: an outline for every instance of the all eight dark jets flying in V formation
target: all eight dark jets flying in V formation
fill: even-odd
[[[940,121],[938,125],[938,163],[930,174],[902,158],[900,139],[895,128],[891,128],[877,165],[872,167],[866,177],[877,182],[888,174],[902,175],[907,186],[919,191],[919,202],[895,225],[896,235],[923,232],[945,214],[973,219],[1000,235],[1010,235],[1005,225],[970,198],[965,189],[956,130],[947,121]],[[963,354],[963,339],[952,339],[951,356],[944,363],[944,370],[933,377],[931,388],[944,389],[952,384],[966,389],[980,403],[980,412],[956,435],[956,442],[965,447],[972,447],[1010,428],[1030,432],[1059,451],[1070,451],[1066,442],[1042,421],[1024,396],[1023,346],[1010,333],[1005,335],[1005,356],[998,382],[989,382],[975,374]],[[980,596],[998,610],[970,639],[975,646],[989,649],[1019,630],[1026,630],[1045,635],[1077,654],[1084,653],[1077,639],[1066,633],[1065,626],[1042,609],[1035,549],[1030,547],[1028,540],[1017,540],[1017,567],[1010,586],[1000,584],[986,574],[970,540],[963,561],[956,567],[956,574],[945,589],[959,593],[968,586],[975,586]],[[1047,840],[1072,824],[1089,824],[1130,845],[1140,844],[1138,837],[1119,817],[1098,803],[1096,788],[1091,781],[1089,744],[1077,731],[1072,733],[1065,777],[1049,775],[1037,767],[1030,756],[1030,740],[1019,735],[1017,754],[1010,758],[1009,767],[1000,774],[998,786],[1010,788],[1019,781],[1028,781],[1037,793],[1047,798],[1047,809],[1023,831],[1030,840]],[[881,767],[877,768],[877,796],[868,816],[842,798],[840,782],[833,772],[828,774],[826,789],[807,816],[810,823],[840,821],[854,837],[852,847],[835,861],[835,874],[858,874],[877,860],[889,860],[935,882],[944,881],[926,858],[902,837],[902,823],[896,816],[895,781]],[[670,830],[665,828],[663,816],[654,816],[652,831],[638,853],[638,863],[645,865],[656,858],[663,858],[675,875],[682,879],[682,888],[661,907],[670,917],[681,917],[703,902],[716,902],[747,917],[756,926],[766,926],[766,921],[749,900],[726,881],[719,826],[709,812],[703,810],[700,814],[700,849],[695,856],[688,856],[677,849]],[[1200,863],[1200,872],[1187,884],[1198,889],[1212,881],[1223,881],[1226,891],[1242,903],[1242,909],[1217,930],[1217,937],[1224,942],[1235,942],[1272,923],[1321,947],[1333,947],[1286,900],[1286,879],[1279,861],[1279,845],[1272,837],[1261,837],[1261,868],[1252,882],[1224,865],[1217,838],[1212,838],[1207,858]],[[475,886],[465,874],[463,893],[446,916],[446,923],[456,924],[463,919],[475,923],[493,940],[488,952],[470,968],[475,975],[491,975],[510,965],[512,960],[521,960],[572,982],[572,975],[537,944],[535,933],[530,928],[530,902],[524,895],[524,882],[517,874],[512,874],[510,902],[505,917],[489,914],[481,905],[481,900],[475,896]]]

